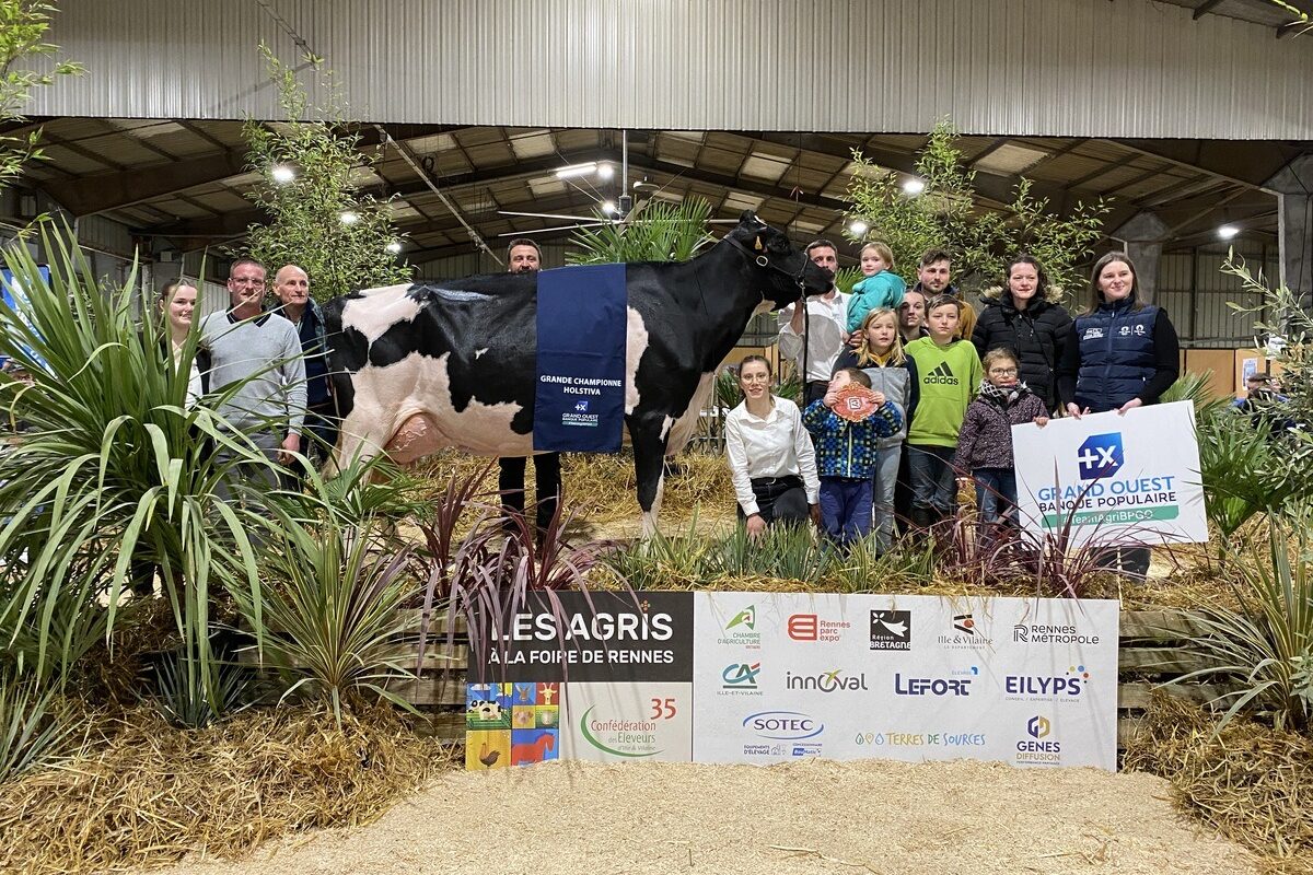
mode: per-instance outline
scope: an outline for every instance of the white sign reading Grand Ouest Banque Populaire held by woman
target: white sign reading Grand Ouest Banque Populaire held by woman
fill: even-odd
[[[1190,401],[1012,426],[1022,525],[1073,547],[1208,540]]]

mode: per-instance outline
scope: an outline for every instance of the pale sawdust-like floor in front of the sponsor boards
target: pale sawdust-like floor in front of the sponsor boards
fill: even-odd
[[[377,823],[188,875],[587,872],[1254,872],[1167,783],[958,761],[780,766],[548,763],[450,773]]]

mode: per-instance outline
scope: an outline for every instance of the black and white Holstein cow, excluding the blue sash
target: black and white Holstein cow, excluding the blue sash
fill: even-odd
[[[692,436],[716,369],[758,311],[830,287],[752,213],[692,261],[630,264],[625,425],[643,534],[660,512],[662,460]],[[335,463],[385,450],[407,463],[442,447],[533,453],[533,274],[370,289],[324,307],[344,416]]]

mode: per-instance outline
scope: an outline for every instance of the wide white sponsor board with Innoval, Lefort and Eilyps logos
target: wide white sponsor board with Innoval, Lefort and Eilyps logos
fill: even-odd
[[[1117,602],[695,594],[693,760],[1116,769]]]

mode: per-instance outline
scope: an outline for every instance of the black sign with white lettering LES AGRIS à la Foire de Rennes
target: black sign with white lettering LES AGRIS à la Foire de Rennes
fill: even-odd
[[[470,653],[477,681],[693,678],[692,593],[533,592],[500,628],[482,632],[488,645]]]

